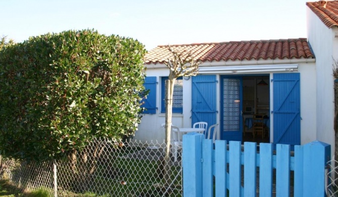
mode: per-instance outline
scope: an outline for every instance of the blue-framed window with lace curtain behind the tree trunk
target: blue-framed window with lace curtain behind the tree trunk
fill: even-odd
[[[165,113],[165,80],[161,79],[161,113]],[[179,77],[175,80],[173,93],[173,113],[183,113],[183,78]]]

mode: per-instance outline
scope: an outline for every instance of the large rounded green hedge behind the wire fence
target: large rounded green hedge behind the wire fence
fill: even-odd
[[[144,46],[93,30],[31,37],[0,51],[0,150],[45,160],[94,137],[134,134]]]

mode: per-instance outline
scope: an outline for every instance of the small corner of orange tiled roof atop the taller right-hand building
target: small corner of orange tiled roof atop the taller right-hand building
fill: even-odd
[[[307,2],[306,5],[328,27],[338,26],[338,2],[319,1]]]

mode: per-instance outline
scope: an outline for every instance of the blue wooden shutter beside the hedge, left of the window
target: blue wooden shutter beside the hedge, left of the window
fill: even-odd
[[[144,104],[141,107],[146,109],[142,113],[156,114],[156,77],[146,77],[143,86],[145,89],[149,89],[149,94],[147,98],[142,100]]]

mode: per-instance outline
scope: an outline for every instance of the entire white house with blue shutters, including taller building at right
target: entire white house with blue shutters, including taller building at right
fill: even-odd
[[[173,45],[202,62],[199,75],[176,82],[173,124],[218,123],[222,139],[246,141],[247,119],[260,113],[268,118],[267,142],[295,145],[318,139],[334,150],[332,63],[338,58],[338,2],[307,3],[307,8],[308,39]],[[160,125],[165,122],[168,58],[165,46],[145,56],[144,85],[150,94],[135,139],[164,140]]]

